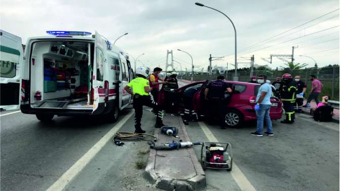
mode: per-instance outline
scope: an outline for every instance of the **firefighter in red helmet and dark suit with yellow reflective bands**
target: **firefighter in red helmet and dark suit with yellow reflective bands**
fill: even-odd
[[[281,123],[293,123],[295,118],[294,104],[297,92],[296,82],[292,80],[290,74],[283,74],[282,80],[283,85],[280,94],[286,119],[281,121]]]

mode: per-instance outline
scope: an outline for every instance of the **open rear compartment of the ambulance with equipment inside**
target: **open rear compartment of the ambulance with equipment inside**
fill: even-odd
[[[34,42],[30,66],[31,107],[92,110],[93,51],[89,51],[93,50],[92,46],[79,41]]]

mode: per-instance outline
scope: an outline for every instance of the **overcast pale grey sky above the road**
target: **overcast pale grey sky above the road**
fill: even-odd
[[[208,66],[209,54],[212,57],[227,56],[224,60],[213,61],[212,65],[234,63],[231,23],[214,10],[194,5],[196,1],[2,0],[1,29],[22,37],[24,44],[28,37],[45,35],[46,30],[98,31],[112,42],[129,32],[116,45],[135,58],[145,53],[137,66],[144,63],[150,68],[165,68],[166,51],[173,50],[174,60],[182,64],[183,70],[190,70],[190,57],[177,49],[190,53],[194,65],[200,69],[204,67],[204,70]],[[297,63],[314,66],[310,58],[299,56],[304,54],[313,57],[319,66],[339,63],[338,10],[245,49],[338,9],[338,0],[199,2],[224,12],[233,20],[237,30],[238,56],[254,55],[255,64],[268,64],[261,58],[268,58],[270,54],[291,54],[293,45],[299,46],[295,49]],[[238,62],[247,62],[239,57]],[[283,63],[274,58],[270,67],[280,67]],[[239,65],[243,66],[249,65]],[[179,69],[176,62],[175,68]]]

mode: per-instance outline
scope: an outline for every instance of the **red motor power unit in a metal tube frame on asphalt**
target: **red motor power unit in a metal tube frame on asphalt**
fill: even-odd
[[[229,142],[202,142],[201,164],[203,170],[211,168],[231,171],[233,167],[231,144]]]

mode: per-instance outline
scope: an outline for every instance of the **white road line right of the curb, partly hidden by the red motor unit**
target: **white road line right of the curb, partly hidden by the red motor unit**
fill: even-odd
[[[219,142],[217,138],[214,136],[214,134],[212,134],[209,128],[205,125],[204,122],[198,122],[198,124],[210,142]],[[254,186],[251,185],[249,180],[244,176],[244,174],[238,168],[238,166],[235,164],[234,161],[233,161],[233,169],[232,171],[230,171],[230,173],[241,190],[256,190]]]

